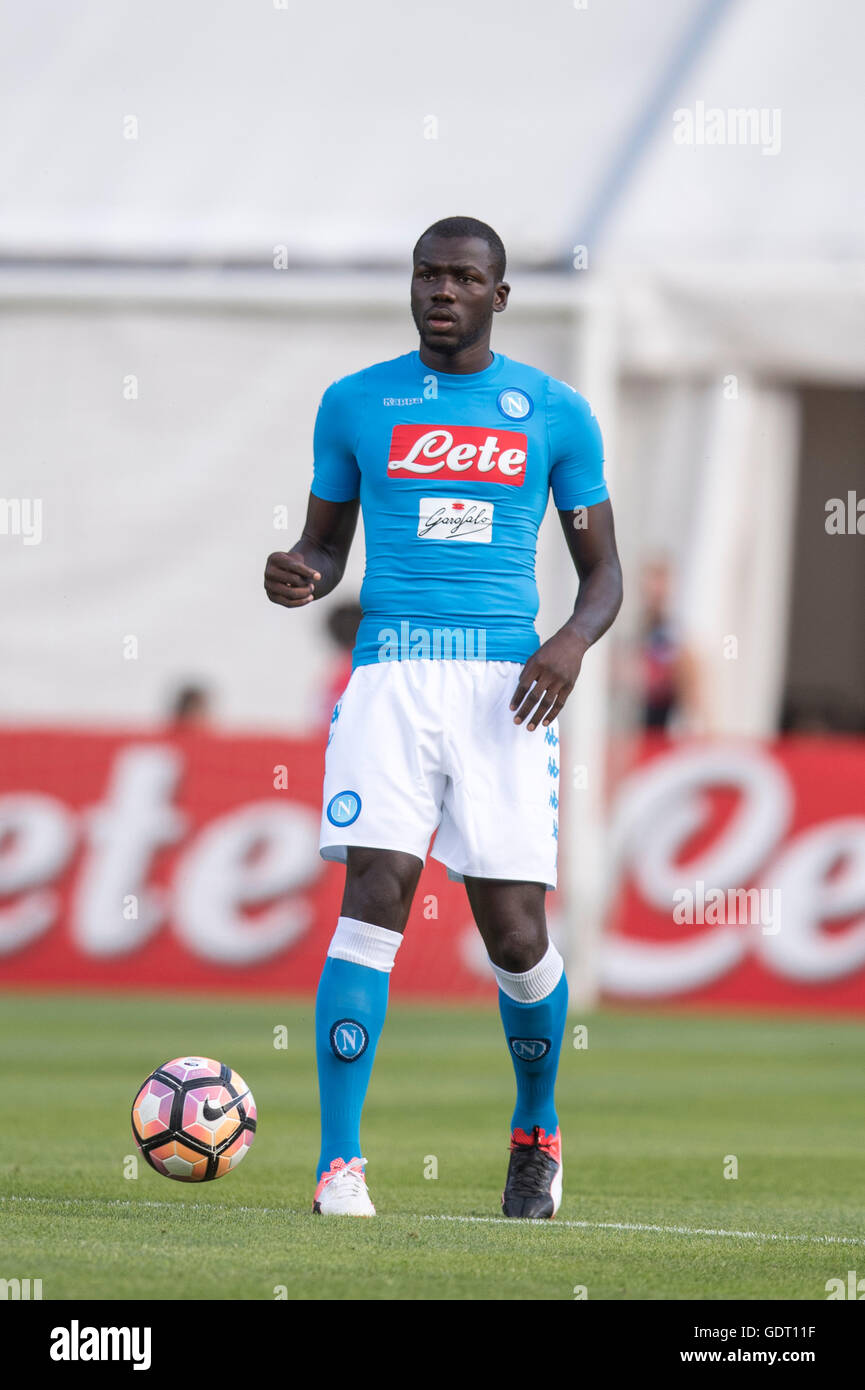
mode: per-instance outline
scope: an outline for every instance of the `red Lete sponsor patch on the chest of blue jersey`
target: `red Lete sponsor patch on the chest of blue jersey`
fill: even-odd
[[[388,477],[459,477],[471,482],[526,481],[528,441],[513,430],[481,430],[476,425],[394,425]]]

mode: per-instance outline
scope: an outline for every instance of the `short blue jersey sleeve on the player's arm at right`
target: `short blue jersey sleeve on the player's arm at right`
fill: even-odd
[[[591,406],[562,381],[549,382],[547,407],[549,485],[560,512],[591,507],[609,498],[604,481],[604,441]]]

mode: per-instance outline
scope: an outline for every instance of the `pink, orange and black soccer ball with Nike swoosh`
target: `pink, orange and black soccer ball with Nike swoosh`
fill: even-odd
[[[236,1168],[256,1136],[256,1102],[242,1076],[209,1056],[178,1056],[152,1072],[132,1102],[139,1150],[164,1177],[209,1183]]]

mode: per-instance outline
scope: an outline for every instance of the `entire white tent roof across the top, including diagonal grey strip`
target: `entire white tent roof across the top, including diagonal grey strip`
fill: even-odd
[[[470,213],[520,260],[865,257],[857,0],[17,0],[0,253],[402,263]],[[697,104],[770,147],[681,145]]]

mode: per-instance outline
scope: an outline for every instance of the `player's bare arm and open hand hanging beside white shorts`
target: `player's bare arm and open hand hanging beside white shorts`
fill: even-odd
[[[515,724],[531,716],[528,730],[551,724],[577,684],[585,652],[612,626],[622,606],[622,566],[609,498],[573,512],[559,509],[567,549],[580,578],[574,610],[526,662],[510,709]]]

